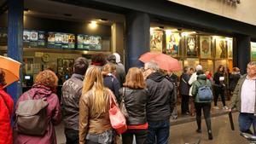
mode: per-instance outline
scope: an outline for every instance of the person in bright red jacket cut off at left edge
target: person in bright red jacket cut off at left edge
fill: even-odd
[[[0,144],[13,144],[11,115],[14,110],[14,101],[4,90],[6,84],[5,73],[0,69]]]

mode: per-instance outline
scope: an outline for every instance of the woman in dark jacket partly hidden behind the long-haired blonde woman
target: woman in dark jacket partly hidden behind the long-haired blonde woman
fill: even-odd
[[[114,76],[116,67],[113,64],[106,64],[102,67],[103,84],[108,87],[119,101],[119,80]]]

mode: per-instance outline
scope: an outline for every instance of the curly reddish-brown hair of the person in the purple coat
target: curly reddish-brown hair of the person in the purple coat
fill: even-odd
[[[41,84],[50,89],[55,89],[58,85],[58,77],[55,75],[55,72],[44,70],[43,72],[38,73],[38,76],[35,79],[35,84]]]

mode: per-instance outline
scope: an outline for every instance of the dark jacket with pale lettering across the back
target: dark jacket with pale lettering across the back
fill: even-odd
[[[79,99],[82,95],[84,76],[74,73],[62,86],[61,105],[64,125],[67,129],[79,130]]]

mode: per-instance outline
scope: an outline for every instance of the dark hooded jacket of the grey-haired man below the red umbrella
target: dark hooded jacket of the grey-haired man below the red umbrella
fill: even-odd
[[[169,119],[175,106],[175,85],[160,72],[151,73],[146,79],[149,100],[147,106],[148,121]]]

